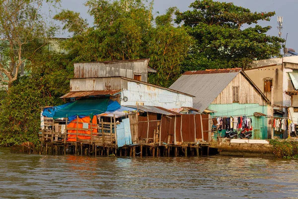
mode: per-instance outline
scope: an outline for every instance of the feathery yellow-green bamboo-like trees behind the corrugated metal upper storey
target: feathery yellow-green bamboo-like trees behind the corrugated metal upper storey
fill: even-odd
[[[150,83],[167,87],[178,78],[192,40],[184,27],[173,26],[175,8],[156,17],[154,24],[152,2],[88,0],[85,5],[94,17],[93,27],[70,10],[55,16],[74,33],[64,44],[74,62],[150,58],[149,65],[158,71]]]

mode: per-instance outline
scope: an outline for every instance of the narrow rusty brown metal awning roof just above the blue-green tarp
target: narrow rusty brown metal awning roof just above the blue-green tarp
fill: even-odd
[[[104,91],[72,91],[60,98],[79,98],[79,97],[87,97],[87,96],[113,96],[118,93],[121,93],[121,90],[104,90]]]

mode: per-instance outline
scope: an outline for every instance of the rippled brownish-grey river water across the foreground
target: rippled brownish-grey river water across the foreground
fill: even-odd
[[[298,160],[40,156],[0,148],[0,198],[292,199]]]

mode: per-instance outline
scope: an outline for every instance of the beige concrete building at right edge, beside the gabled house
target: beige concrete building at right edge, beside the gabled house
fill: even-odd
[[[255,61],[245,73],[268,99],[273,95],[275,116],[298,123],[298,56]]]

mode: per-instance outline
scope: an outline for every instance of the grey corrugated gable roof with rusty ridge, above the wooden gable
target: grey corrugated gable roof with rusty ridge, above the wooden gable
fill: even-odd
[[[265,101],[270,102],[241,68],[188,71],[183,73],[169,88],[194,95],[193,107],[202,112],[224,91],[227,85],[239,73],[245,77]]]

